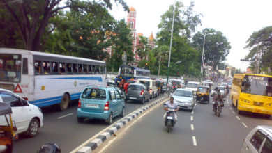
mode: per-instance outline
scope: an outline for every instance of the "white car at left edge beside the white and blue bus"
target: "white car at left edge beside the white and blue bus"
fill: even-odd
[[[10,104],[13,122],[17,127],[16,134],[27,134],[30,137],[36,136],[40,127],[43,127],[43,113],[40,108],[29,104],[27,100],[5,89],[0,88],[0,102]],[[6,118],[0,116],[0,124],[6,124]]]

